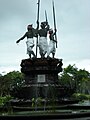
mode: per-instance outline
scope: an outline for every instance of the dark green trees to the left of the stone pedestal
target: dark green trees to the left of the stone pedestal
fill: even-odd
[[[0,96],[10,94],[10,89],[19,86],[23,81],[24,75],[19,71],[12,71],[4,76],[0,76]]]

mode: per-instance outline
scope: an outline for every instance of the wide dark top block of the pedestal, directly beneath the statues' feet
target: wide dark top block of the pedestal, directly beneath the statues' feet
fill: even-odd
[[[50,74],[62,72],[62,59],[24,59],[21,62],[21,72],[25,74]]]

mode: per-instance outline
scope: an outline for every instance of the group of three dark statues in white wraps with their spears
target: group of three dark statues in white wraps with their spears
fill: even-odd
[[[25,37],[27,37],[26,45],[27,45],[27,54],[31,58],[31,55],[33,55],[34,58],[37,57],[37,47],[39,47],[39,53],[41,58],[45,57],[45,54],[47,53],[47,57],[49,58],[50,53],[52,53],[52,56],[54,58],[55,56],[55,43],[57,48],[57,35],[56,35],[56,20],[55,20],[55,9],[54,9],[54,2],[53,2],[53,19],[54,19],[54,30],[49,29],[50,26],[48,24],[47,20],[47,13],[45,10],[45,22],[41,22],[41,28],[39,29],[39,7],[40,7],[40,0],[38,0],[38,12],[37,12],[37,28],[34,29],[31,25],[27,26],[27,32],[21,37],[19,40],[16,41],[16,43],[19,43],[21,40],[23,40]],[[49,38],[50,42],[48,45],[47,42],[47,33],[49,31]],[[37,37],[36,40],[36,55],[33,51],[34,47],[34,37]]]

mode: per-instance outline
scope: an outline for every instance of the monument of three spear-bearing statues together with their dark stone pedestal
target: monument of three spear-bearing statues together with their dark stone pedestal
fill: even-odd
[[[53,2],[53,21],[54,30],[50,28],[47,20],[47,13],[45,11],[46,21],[41,22],[41,29],[39,29],[39,7],[40,0],[38,0],[38,12],[37,12],[37,28],[33,28],[32,24],[27,26],[27,32],[21,37],[23,40],[27,37],[27,54],[28,59],[21,61],[21,72],[24,74],[24,85],[18,91],[17,98],[24,101],[32,101],[41,98],[47,102],[51,100],[59,101],[64,95],[64,88],[60,85],[58,80],[58,74],[62,72],[62,59],[55,58],[55,52],[57,48],[57,29],[55,20],[55,8]],[[49,32],[50,42],[47,43],[47,33]],[[33,51],[34,40],[36,37],[36,55]],[[56,47],[55,47],[56,45]],[[39,47],[40,58],[37,57],[37,48]],[[52,53],[52,57],[50,54]],[[47,57],[45,55],[47,54]],[[31,56],[33,55],[33,57]]]

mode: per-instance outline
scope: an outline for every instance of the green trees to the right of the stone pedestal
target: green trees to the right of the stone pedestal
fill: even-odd
[[[90,73],[85,69],[78,69],[75,64],[64,68],[59,76],[59,82],[74,92],[87,92],[88,94],[90,92]]]

